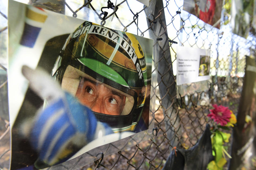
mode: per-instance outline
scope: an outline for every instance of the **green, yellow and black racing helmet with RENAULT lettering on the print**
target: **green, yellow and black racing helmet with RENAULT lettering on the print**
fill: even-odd
[[[97,120],[109,124],[114,132],[134,130],[147,91],[146,61],[134,35],[86,21],[67,38],[52,76],[64,90],[77,97],[81,89],[82,94],[94,93],[91,87],[85,87],[86,82],[97,87],[103,84],[108,91],[121,96],[122,107],[116,115],[92,109]],[[82,97],[79,95],[78,99]],[[107,102],[112,102],[111,97]]]

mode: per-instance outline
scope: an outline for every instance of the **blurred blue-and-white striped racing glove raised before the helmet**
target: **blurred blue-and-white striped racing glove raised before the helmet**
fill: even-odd
[[[40,164],[51,166],[64,162],[99,134],[113,133],[107,124],[96,120],[89,108],[62,91],[44,71],[23,66],[22,73],[29,80],[30,88],[48,103],[38,111],[26,133],[39,154]]]

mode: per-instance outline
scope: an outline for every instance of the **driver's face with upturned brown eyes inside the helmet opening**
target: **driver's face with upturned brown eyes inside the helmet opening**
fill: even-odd
[[[92,111],[110,115],[120,115],[126,100],[126,96],[103,83],[86,78],[81,78],[76,97]]]

